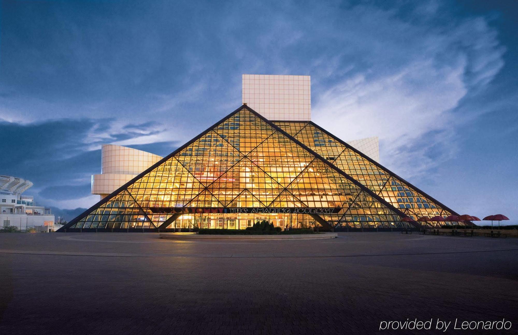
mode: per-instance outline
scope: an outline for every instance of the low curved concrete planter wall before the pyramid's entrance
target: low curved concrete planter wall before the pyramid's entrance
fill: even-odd
[[[230,240],[230,241],[286,241],[334,239],[337,233],[298,235],[198,235],[197,233],[161,233],[161,239],[170,240]]]

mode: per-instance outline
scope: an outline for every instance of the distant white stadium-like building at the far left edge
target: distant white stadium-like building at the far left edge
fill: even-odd
[[[0,175],[0,229],[15,226],[20,230],[48,231],[61,227],[54,227],[50,208],[37,206],[33,196],[22,196],[32,186],[28,180]]]

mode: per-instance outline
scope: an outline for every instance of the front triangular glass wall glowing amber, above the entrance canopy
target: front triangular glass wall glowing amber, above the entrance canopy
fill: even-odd
[[[118,197],[131,197],[133,203],[122,203]],[[195,211],[200,208],[325,208],[323,213],[328,213],[333,226],[356,217],[390,226],[404,215],[246,105],[66,228],[81,228],[79,222],[88,221],[107,207],[118,211],[138,207],[137,214],[143,215],[151,228],[159,227],[164,215],[169,215],[167,219],[171,213],[198,213]],[[307,212],[310,214],[310,210]],[[311,212],[315,213],[319,212]],[[136,226],[133,222],[141,220],[136,216],[125,225],[121,222],[120,227]],[[108,227],[105,218],[95,217],[99,228]]]

